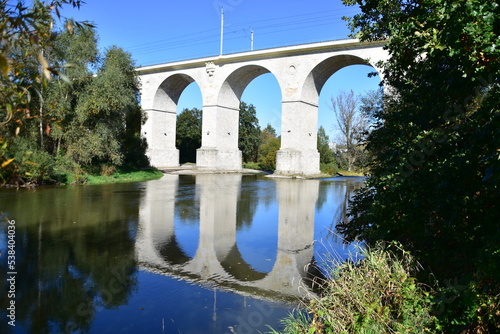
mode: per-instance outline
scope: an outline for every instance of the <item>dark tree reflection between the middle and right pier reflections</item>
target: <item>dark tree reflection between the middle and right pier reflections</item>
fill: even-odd
[[[238,230],[252,225],[255,211],[259,205],[259,187],[255,184],[256,179],[256,176],[250,175],[245,175],[241,179],[241,192],[236,214],[236,228]]]

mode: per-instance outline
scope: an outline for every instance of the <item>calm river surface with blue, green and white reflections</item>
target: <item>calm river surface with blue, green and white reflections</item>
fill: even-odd
[[[1,333],[259,333],[311,294],[359,178],[0,190]],[[8,225],[15,221],[15,298]],[[15,327],[7,310],[15,301]]]

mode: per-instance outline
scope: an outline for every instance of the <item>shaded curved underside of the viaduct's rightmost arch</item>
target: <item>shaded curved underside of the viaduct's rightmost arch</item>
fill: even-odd
[[[302,88],[304,101],[317,104],[319,93],[326,81],[335,72],[350,65],[372,66],[365,59],[352,55],[338,55],[325,59],[316,65],[307,76]]]

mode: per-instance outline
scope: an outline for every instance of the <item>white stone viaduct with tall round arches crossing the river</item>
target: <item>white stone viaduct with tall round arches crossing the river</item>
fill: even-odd
[[[341,68],[363,64],[377,69],[377,62],[387,58],[383,42],[348,39],[138,68],[142,108],[148,116],[142,135],[148,142],[151,164],[179,165],[175,147],[177,102],[184,89],[196,82],[203,101],[202,143],[196,153],[196,167],[241,170],[240,98],[253,79],[272,73],[282,96],[281,148],[276,155],[275,173],[318,174],[316,133],[323,85]]]

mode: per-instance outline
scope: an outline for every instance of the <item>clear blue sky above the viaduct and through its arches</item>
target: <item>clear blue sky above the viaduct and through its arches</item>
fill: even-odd
[[[220,48],[220,8],[224,7],[224,53],[346,38],[342,16],[354,7],[340,0],[87,0],[80,10],[66,7],[63,15],[94,22],[99,46],[122,47],[138,66],[213,56]],[[328,107],[340,90],[356,93],[377,89],[379,79],[367,78],[368,66],[350,66],[334,74],[319,101],[319,124],[334,139],[335,120]],[[281,94],[270,74],[256,78],[242,100],[253,104],[261,127],[271,123],[279,133]],[[199,88],[192,84],[179,101],[178,110],[202,108]]]

